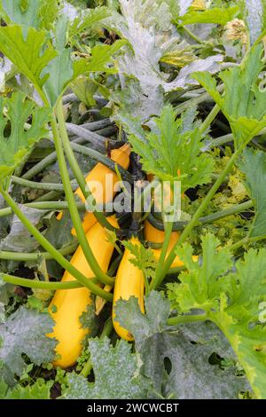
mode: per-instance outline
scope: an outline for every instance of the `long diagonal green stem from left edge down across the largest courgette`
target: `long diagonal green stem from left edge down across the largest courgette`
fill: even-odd
[[[107,301],[113,300],[113,295],[107,293],[105,290],[91,282],[90,279],[85,277],[70,262],[68,262],[66,258],[60,254],[59,250],[51,245],[50,241],[47,240],[43,234],[35,228],[35,226],[28,220],[27,216],[22,213],[16,202],[13,201],[9,193],[6,193],[1,186],[0,193],[3,195],[4,200],[11,207],[14,214],[20,218],[21,223],[24,224],[28,232],[30,232],[34,236],[35,240],[37,240],[39,244],[51,254],[53,259],[55,259],[66,271],[68,271],[75,279],[77,279],[77,281],[79,281],[83,287],[89,288],[93,294],[99,295]]]

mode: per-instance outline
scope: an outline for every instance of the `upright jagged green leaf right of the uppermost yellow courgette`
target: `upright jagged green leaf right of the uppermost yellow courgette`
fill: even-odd
[[[207,184],[214,162],[209,155],[200,151],[200,130],[184,132],[182,119],[176,120],[171,106],[165,106],[154,122],[156,129],[152,132],[145,132],[141,137],[129,136],[129,142],[140,155],[145,171],[153,173],[160,180],[171,183],[181,181],[183,192],[196,185]]]

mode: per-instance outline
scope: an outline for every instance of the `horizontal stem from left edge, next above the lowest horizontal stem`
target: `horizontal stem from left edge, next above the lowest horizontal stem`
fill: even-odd
[[[78,247],[78,243],[72,243],[66,246],[66,248],[58,249],[59,253],[63,256],[74,253],[74,250]],[[16,262],[28,262],[37,261],[40,258],[51,260],[53,257],[49,252],[37,252],[37,253],[21,253],[21,252],[8,252],[0,250],[0,259],[5,261],[16,261]]]

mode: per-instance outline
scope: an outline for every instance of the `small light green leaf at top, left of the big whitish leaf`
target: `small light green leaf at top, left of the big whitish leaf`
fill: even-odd
[[[101,20],[104,20],[111,15],[112,12],[104,6],[82,11],[69,27],[69,38],[71,39],[73,36],[82,34],[82,32],[88,30],[88,28],[92,28]]]

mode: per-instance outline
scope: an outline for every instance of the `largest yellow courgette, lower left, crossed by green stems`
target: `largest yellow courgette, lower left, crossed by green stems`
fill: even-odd
[[[109,217],[108,221],[113,226],[118,227],[115,216]],[[86,236],[98,264],[106,272],[111,257],[113,256],[113,245],[106,239],[106,229],[98,223],[94,224]],[[93,277],[93,272],[87,263],[81,247],[74,253],[71,264],[81,271],[83,275],[88,277],[88,279]],[[62,281],[73,280],[74,277],[66,271]],[[90,329],[82,328],[80,317],[87,310],[87,306],[90,303],[90,290],[88,288],[82,287],[56,291],[49,307],[49,312],[55,321],[55,326],[53,327],[53,333],[47,334],[50,337],[55,337],[59,341],[56,346],[56,353],[60,355],[60,358],[55,360],[54,366],[60,366],[62,368],[73,366],[76,359],[80,356],[82,352],[82,340],[90,332]],[[56,308],[55,312],[53,312],[53,307]]]

